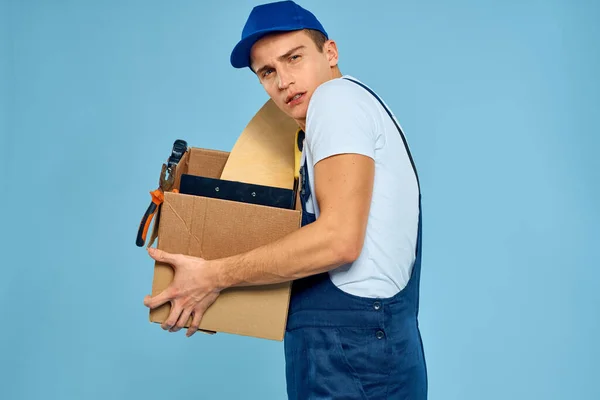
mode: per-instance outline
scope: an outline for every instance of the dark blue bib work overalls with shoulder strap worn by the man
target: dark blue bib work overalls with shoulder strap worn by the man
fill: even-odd
[[[381,102],[362,83],[351,81]],[[381,104],[391,118],[390,111],[383,102]],[[406,139],[396,121],[394,123],[418,184]],[[301,167],[300,179],[304,226],[316,220],[306,209],[310,196],[306,161]],[[284,340],[290,400],[427,398],[427,368],[417,321],[421,272],[420,193],[419,185],[416,259],[407,286],[395,296],[366,298],[346,293],[333,284],[327,272],[294,281]]]

